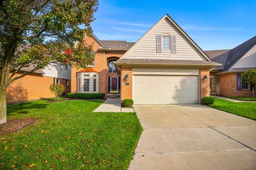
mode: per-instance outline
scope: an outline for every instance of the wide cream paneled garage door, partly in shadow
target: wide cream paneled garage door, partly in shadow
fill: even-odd
[[[198,104],[196,75],[133,75],[134,104]]]

